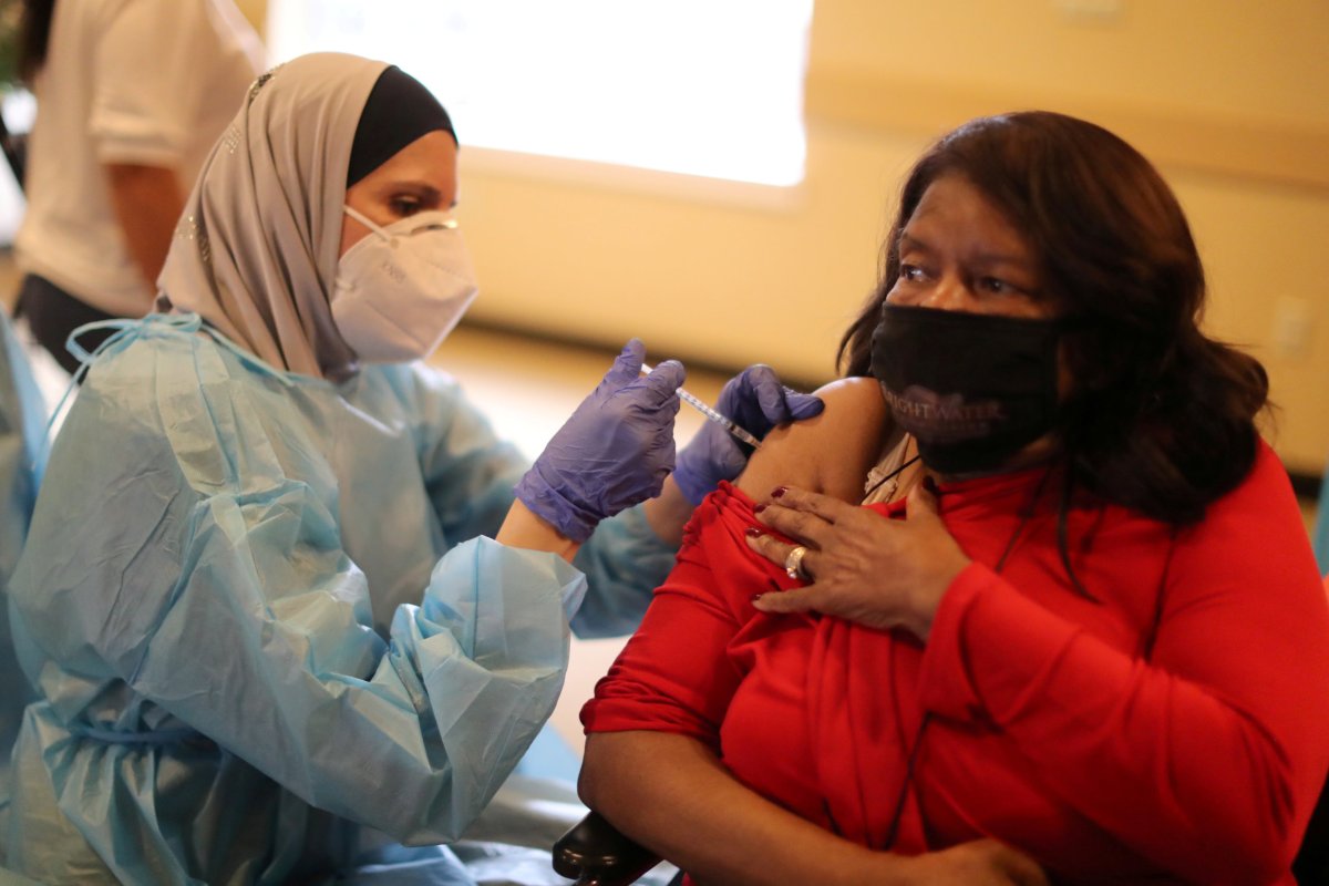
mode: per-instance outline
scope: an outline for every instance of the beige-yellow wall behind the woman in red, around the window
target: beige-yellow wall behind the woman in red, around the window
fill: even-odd
[[[696,182],[625,186],[462,150],[464,223],[484,283],[473,313],[829,377],[917,151],[975,114],[1051,108],[1108,125],[1160,165],[1205,256],[1209,328],[1265,361],[1282,406],[1275,444],[1292,468],[1318,472],[1329,453],[1326,43],[1324,0],[816,0],[803,186],[783,203],[744,203]]]

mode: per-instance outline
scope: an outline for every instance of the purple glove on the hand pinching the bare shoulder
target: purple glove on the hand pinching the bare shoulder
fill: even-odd
[[[775,369],[760,363],[724,383],[715,402],[716,412],[758,438],[766,437],[776,425],[820,416],[824,408],[819,397],[785,388]],[[678,454],[674,482],[695,507],[722,480],[742,474],[751,454],[751,446],[735,440],[714,421],[707,421]]]

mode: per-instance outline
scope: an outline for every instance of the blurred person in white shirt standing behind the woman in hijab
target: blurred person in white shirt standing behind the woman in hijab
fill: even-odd
[[[152,310],[185,195],[262,46],[231,0],[24,0],[20,40],[37,118],[17,310],[73,373],[70,332]]]

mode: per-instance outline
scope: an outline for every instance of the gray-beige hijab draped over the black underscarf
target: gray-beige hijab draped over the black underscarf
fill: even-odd
[[[351,143],[385,68],[316,53],[254,82],[185,205],[158,311],[193,311],[282,369],[334,381],[355,372],[328,299]]]

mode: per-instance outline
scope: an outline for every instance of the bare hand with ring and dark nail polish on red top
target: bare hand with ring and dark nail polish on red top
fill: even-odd
[[[815,610],[874,628],[904,627],[926,640],[941,598],[969,565],[922,485],[909,494],[905,519],[795,487],[773,490],[756,518],[748,546],[781,567],[805,546],[799,566],[812,582],[760,595],[752,604],[763,612]]]

